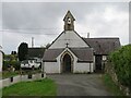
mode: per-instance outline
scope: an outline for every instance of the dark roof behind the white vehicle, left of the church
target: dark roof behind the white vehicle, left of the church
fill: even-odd
[[[28,48],[28,58],[43,58],[45,48]]]

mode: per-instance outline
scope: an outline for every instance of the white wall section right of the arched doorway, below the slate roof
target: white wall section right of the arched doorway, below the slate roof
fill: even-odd
[[[74,73],[88,73],[88,72],[94,72],[93,71],[94,66],[93,63],[76,63]]]

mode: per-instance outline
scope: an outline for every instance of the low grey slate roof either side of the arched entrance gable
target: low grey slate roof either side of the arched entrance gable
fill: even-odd
[[[93,49],[91,48],[69,48],[80,62],[93,62]],[[44,61],[57,61],[56,58],[64,49],[48,49],[45,51]]]

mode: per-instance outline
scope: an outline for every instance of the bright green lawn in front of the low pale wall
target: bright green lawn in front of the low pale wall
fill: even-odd
[[[2,96],[56,96],[57,86],[52,79],[21,82],[2,89]]]

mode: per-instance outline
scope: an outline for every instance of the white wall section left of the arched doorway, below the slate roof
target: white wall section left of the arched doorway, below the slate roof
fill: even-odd
[[[58,62],[44,62],[44,70],[46,73],[59,73]]]

